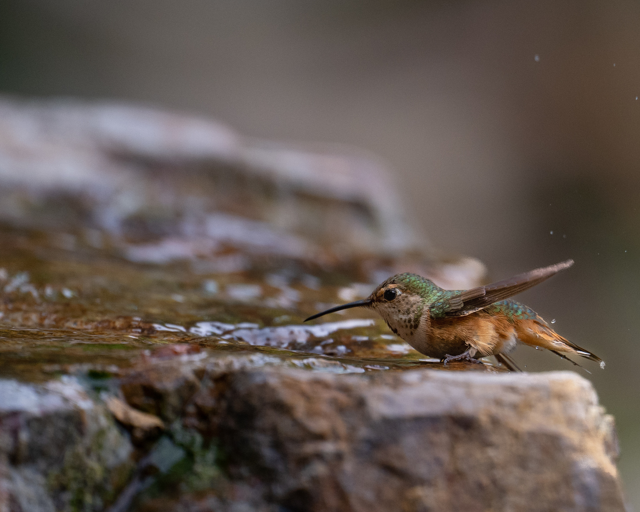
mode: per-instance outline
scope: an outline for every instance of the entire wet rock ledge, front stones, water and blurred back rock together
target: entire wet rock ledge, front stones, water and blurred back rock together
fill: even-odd
[[[484,280],[396,198],[353,148],[0,97],[0,512],[623,510],[589,381],[303,323]]]

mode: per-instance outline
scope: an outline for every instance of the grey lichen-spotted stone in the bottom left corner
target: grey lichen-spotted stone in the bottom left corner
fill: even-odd
[[[132,446],[73,379],[0,380],[0,511],[100,511],[122,490]]]

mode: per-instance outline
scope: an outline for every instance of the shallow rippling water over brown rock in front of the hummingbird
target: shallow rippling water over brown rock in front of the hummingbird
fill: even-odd
[[[345,296],[367,293],[370,285],[353,284],[344,273],[314,275],[287,260],[232,273],[204,272],[201,262],[140,264],[109,246],[76,241],[65,248],[65,236],[0,232],[4,377],[115,376],[144,358],[187,352],[255,353],[314,371],[443,368],[364,309],[304,324]],[[469,366],[477,367],[449,369]]]

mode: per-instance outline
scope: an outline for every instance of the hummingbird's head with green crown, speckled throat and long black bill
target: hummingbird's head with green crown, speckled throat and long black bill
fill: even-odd
[[[395,319],[422,312],[431,294],[437,290],[440,290],[438,286],[417,274],[396,274],[378,285],[366,299],[330,308],[308,317],[305,322],[343,309],[367,307],[376,310],[387,323],[394,323]]]

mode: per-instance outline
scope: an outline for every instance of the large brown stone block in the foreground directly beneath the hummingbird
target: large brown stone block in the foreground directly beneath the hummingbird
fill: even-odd
[[[349,375],[204,361],[195,387],[184,364],[180,374],[170,365],[125,378],[127,396],[143,406],[144,394],[167,420],[188,397],[184,426],[220,440],[230,481],[253,482],[252,506],[624,509],[612,417],[573,372]],[[187,504],[200,509],[182,497]]]

